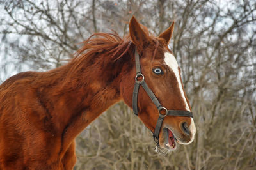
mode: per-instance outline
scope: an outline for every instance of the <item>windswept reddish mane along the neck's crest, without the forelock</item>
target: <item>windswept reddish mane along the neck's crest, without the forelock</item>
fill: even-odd
[[[113,33],[94,33],[87,40],[81,42],[82,47],[74,53],[73,58],[68,64],[67,77],[73,77],[77,70],[84,70],[86,66],[95,65],[102,69],[108,63],[120,61],[120,58],[126,56],[128,59],[134,51],[130,36],[121,38],[115,31]],[[120,65],[116,65],[120,66]],[[111,68],[109,68],[111,69]]]

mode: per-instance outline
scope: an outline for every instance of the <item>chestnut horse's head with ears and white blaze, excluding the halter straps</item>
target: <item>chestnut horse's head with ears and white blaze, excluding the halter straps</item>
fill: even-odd
[[[191,116],[192,113],[189,114],[190,116],[167,114],[168,111],[191,112],[191,107],[182,85],[180,68],[173,52],[168,48],[173,28],[174,22],[158,37],[150,36],[147,27],[139,24],[132,17],[129,22],[129,36],[136,50],[134,58],[138,53],[139,64],[137,65],[140,65],[141,70],[139,69],[138,71],[135,59],[132,59],[133,68],[124,75],[124,80],[121,83],[121,95],[124,102],[129,107],[136,105],[135,110],[138,107],[139,118],[154,135],[157,129],[155,127],[159,126],[158,136],[155,136],[158,139],[157,143],[161,148],[168,150],[175,150],[177,143],[191,143],[196,133],[193,116]],[[141,73],[138,73],[140,71]],[[147,82],[148,86],[148,89],[143,86],[138,90],[138,99],[136,100],[137,96],[134,99],[136,100],[135,104],[131,100],[132,94],[134,96],[132,90],[135,90],[135,88],[131,88],[134,86],[134,77],[136,77],[135,81],[138,84]],[[157,102],[154,102],[154,97],[152,95],[150,97],[148,91],[154,93],[153,96],[161,104],[160,107],[157,106]],[[160,117],[162,118],[161,123],[157,123]]]

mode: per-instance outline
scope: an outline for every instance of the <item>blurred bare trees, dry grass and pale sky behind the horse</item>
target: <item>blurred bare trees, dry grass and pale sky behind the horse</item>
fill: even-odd
[[[75,169],[256,169],[254,0],[0,0],[0,83],[65,65],[94,32],[127,35],[131,16],[170,42],[196,123],[195,141],[155,153],[120,102],[76,139]]]

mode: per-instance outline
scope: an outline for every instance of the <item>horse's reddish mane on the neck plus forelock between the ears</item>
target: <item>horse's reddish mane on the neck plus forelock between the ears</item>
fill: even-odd
[[[150,36],[147,28],[145,28],[144,31]],[[156,56],[157,47],[161,41],[162,40],[159,38],[150,36],[148,45],[156,45],[152,47],[154,48],[152,60],[154,56]],[[112,33],[94,33],[80,44],[82,44],[82,47],[74,53],[74,57],[69,64],[67,73],[67,79],[69,80],[74,77],[77,70],[83,72],[82,70],[84,70],[86,66],[92,65],[94,65],[96,69],[101,67],[101,70],[111,70],[111,73],[113,73],[111,76],[113,78],[113,76],[115,77],[120,73],[120,70],[122,70],[122,67],[128,60],[134,61],[134,58],[131,59],[131,57],[134,56],[135,45],[132,43],[130,35],[121,38],[115,31]],[[128,70],[129,68],[127,68],[127,71]]]

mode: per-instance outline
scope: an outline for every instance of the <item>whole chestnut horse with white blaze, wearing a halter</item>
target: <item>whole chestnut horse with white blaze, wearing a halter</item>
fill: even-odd
[[[76,136],[120,101],[154,133],[159,148],[191,143],[195,123],[168,48],[173,28],[174,22],[152,36],[132,17],[124,38],[94,33],[67,65],[3,82],[0,169],[73,169]]]

